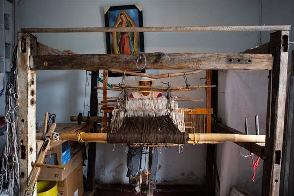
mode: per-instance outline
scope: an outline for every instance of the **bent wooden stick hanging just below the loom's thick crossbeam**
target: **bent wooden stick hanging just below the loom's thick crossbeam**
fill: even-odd
[[[193,70],[193,71],[188,71],[188,72],[179,72],[179,73],[165,73],[165,74],[160,74],[160,75],[153,75],[153,74],[147,74],[147,73],[138,73],[138,72],[131,72],[131,71],[123,71],[123,70],[117,70],[117,69],[110,69],[109,71],[111,72],[116,72],[116,73],[124,73],[126,75],[132,75],[132,76],[141,76],[141,77],[149,77],[152,79],[161,79],[161,78],[167,78],[167,77],[178,77],[178,76],[183,76],[183,75],[191,75],[195,73],[200,73],[205,70]]]

